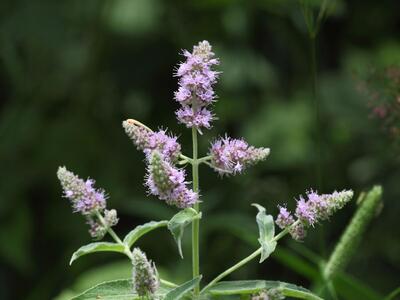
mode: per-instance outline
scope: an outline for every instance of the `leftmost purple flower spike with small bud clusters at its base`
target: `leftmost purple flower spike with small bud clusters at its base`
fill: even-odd
[[[89,233],[93,238],[101,239],[107,228],[118,223],[115,209],[106,209],[106,195],[104,190],[95,189],[93,179],[83,180],[65,167],[59,167],[57,177],[64,190],[64,197],[69,199],[74,212],[86,217],[90,226]],[[97,214],[103,214],[103,222],[99,222]]]

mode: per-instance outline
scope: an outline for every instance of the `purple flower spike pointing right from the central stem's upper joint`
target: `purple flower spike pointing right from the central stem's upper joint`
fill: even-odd
[[[255,148],[244,140],[225,137],[211,145],[209,155],[214,169],[224,175],[241,173],[246,167],[264,160],[269,152],[268,148]]]

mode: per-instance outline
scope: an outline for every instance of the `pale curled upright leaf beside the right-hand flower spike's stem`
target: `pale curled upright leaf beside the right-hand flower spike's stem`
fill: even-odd
[[[260,263],[266,260],[272,252],[275,251],[277,242],[273,241],[275,235],[274,218],[267,215],[265,208],[261,205],[254,203],[253,206],[257,207],[258,214],[256,217],[258,229],[260,231],[260,238],[258,241],[262,247]]]

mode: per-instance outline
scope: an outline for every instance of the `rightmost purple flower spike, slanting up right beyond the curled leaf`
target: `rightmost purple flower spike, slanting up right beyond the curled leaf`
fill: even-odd
[[[306,235],[306,228],[314,226],[320,220],[326,220],[337,210],[341,209],[353,197],[353,191],[344,190],[332,194],[319,195],[311,190],[306,193],[306,199],[300,196],[297,200],[295,216],[299,222],[295,223],[292,214],[285,208],[279,207],[279,214],[275,220],[281,229],[289,228],[289,233],[296,240],[302,240]]]

